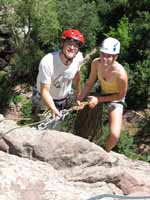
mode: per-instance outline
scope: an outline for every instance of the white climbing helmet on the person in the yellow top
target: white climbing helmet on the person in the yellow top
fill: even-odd
[[[112,37],[105,39],[102,42],[102,46],[100,47],[100,51],[108,54],[119,54],[120,53],[120,42]]]

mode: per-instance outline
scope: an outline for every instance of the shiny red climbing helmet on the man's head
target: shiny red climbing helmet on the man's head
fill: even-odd
[[[68,29],[63,32],[61,39],[66,40],[68,38],[77,40],[81,44],[84,44],[84,36],[76,29]]]

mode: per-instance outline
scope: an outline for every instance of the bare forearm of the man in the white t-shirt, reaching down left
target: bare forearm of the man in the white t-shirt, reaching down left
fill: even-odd
[[[51,97],[49,93],[49,87],[50,87],[49,84],[41,83],[41,87],[40,87],[41,97],[44,100],[46,106],[52,111],[52,114],[56,116],[60,116],[60,113],[54,104],[53,98]]]

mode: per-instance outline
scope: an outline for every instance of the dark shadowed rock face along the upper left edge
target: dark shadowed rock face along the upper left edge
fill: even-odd
[[[0,70],[4,69],[11,59],[14,49],[12,47],[12,35],[5,25],[6,9],[0,5]]]

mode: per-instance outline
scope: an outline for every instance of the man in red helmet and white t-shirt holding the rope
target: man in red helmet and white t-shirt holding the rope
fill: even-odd
[[[76,87],[76,97],[80,93],[80,65],[83,62],[80,47],[84,36],[75,29],[65,30],[61,36],[61,50],[45,55],[40,64],[37,76],[38,94],[33,95],[34,102],[38,97],[53,117],[60,117],[60,110],[67,106],[72,83]]]

